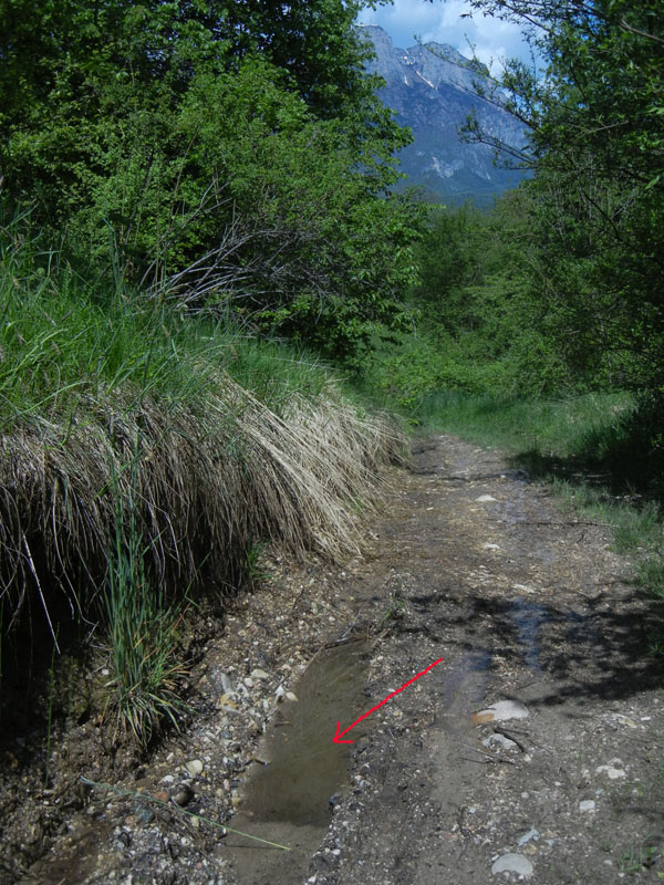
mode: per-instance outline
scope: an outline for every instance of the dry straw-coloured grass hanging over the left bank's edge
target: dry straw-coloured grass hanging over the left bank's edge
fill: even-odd
[[[356,502],[375,493],[403,439],[332,391],[276,415],[228,375],[207,372],[186,406],[115,389],[77,418],[33,419],[0,438],[0,594],[13,625],[103,614],[117,506],[137,519],[146,569],[169,600],[195,583],[228,593],[247,552],[356,550]],[[11,635],[11,631],[10,631]]]

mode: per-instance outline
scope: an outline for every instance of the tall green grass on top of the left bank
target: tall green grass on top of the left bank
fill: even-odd
[[[204,406],[227,371],[279,412],[293,393],[329,383],[313,360],[258,343],[232,323],[167,311],[154,300],[81,279],[62,254],[39,248],[20,219],[0,230],[0,428],[87,413],[87,397]],[[131,405],[132,400],[128,400]]]

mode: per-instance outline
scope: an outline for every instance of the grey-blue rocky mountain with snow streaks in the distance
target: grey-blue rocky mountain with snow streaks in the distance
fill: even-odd
[[[521,180],[522,173],[495,163],[491,147],[468,144],[458,134],[475,110],[490,135],[512,146],[523,143],[521,124],[477,96],[477,83],[487,82],[486,69],[444,43],[400,49],[377,25],[364,25],[363,33],[377,55],[370,70],[385,80],[381,98],[396,111],[402,125],[413,129],[415,140],[401,155],[407,184],[424,186],[427,199],[434,201],[470,197],[484,204]]]

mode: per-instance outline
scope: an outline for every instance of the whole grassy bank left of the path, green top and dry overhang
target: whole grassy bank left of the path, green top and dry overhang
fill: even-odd
[[[0,689],[94,633],[107,709],[145,740],[178,715],[189,602],[222,603],[266,542],[354,549],[402,440],[314,361],[28,231],[0,228]]]

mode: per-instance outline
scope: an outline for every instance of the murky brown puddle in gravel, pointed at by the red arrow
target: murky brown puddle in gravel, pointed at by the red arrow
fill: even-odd
[[[330,821],[330,800],[347,788],[351,745],[333,743],[332,738],[338,721],[343,729],[367,708],[367,666],[364,642],[324,649],[293,687],[298,700],[279,705],[256,753],[267,764],[253,766],[230,824],[291,851],[229,834],[224,852],[231,856],[238,883],[291,885],[307,872],[302,866]],[[345,737],[356,741],[370,727],[363,722]]]

